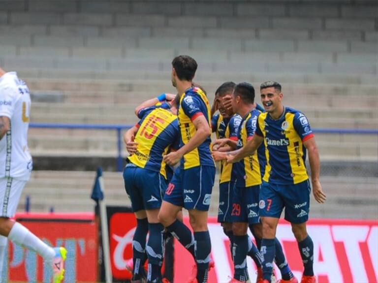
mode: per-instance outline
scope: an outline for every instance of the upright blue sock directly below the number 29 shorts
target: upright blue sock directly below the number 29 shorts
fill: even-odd
[[[234,257],[234,278],[245,282],[247,270],[248,235],[234,235],[234,245],[232,247]],[[248,271],[247,271],[248,272]]]

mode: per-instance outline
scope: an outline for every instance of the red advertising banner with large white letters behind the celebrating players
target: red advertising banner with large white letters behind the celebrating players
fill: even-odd
[[[188,218],[185,218],[185,223],[189,226]],[[130,277],[125,266],[132,257],[135,224],[132,213],[115,213],[110,217],[112,271],[117,279]],[[228,282],[233,275],[228,238],[216,218],[209,219],[209,231],[215,261],[209,282]],[[310,220],[308,232],[314,242],[314,270],[318,283],[377,283],[378,221]],[[293,273],[300,280],[303,264],[289,223],[280,221],[277,237]],[[174,282],[185,283],[194,261],[180,243],[175,244],[174,258]],[[255,282],[256,268],[251,258],[248,258],[247,264],[251,282]],[[280,271],[277,267],[275,269],[280,278]]]

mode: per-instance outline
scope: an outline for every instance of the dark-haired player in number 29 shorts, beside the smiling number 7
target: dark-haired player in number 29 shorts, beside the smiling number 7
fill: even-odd
[[[244,144],[250,141],[253,138],[255,129],[256,129],[256,120],[257,116],[263,110],[259,105],[254,106],[254,88],[252,85],[247,83],[242,83],[237,85],[235,88],[234,94],[232,96],[232,106],[235,112],[240,113],[244,116],[242,120],[243,127],[239,128],[238,132],[238,148],[241,148]],[[217,141],[214,142],[215,144],[218,143]],[[234,203],[234,220],[236,221],[234,226],[236,230],[240,232],[240,229],[244,227],[246,228],[246,223],[249,224],[249,227],[252,231],[252,234],[255,237],[257,247],[260,247],[261,237],[262,237],[262,227],[261,225],[255,220],[256,214],[258,214],[257,205],[258,205],[258,193],[256,190],[249,190],[253,189],[253,187],[249,187],[252,180],[257,183],[261,183],[261,176],[264,174],[265,171],[265,147],[260,146],[257,152],[257,156],[249,156],[246,157],[244,160],[240,161],[238,164],[235,164],[233,170],[235,170],[235,175],[238,177],[238,181],[236,183],[235,191],[235,203]],[[226,153],[214,153],[216,159],[218,158],[226,158]],[[253,158],[257,158],[258,164],[256,160],[253,161]],[[253,166],[253,162],[255,162],[255,166]],[[259,168],[258,168],[259,167]],[[260,174],[258,174],[260,173]],[[246,191],[247,190],[247,191]],[[253,203],[242,203],[241,201],[241,193],[245,192],[248,194],[247,196],[253,198]],[[253,195],[254,193],[254,195]],[[244,198],[242,198],[244,199]],[[247,198],[246,198],[247,199]],[[245,212],[242,213],[244,210]],[[253,210],[254,208],[254,210]],[[239,214],[239,215],[238,215]],[[243,216],[244,215],[244,216]],[[243,223],[245,221],[245,223]],[[241,223],[242,222],[242,223]],[[238,233],[238,232],[237,232]],[[248,239],[248,255],[251,256],[254,262],[257,265],[257,282],[262,280],[262,269],[261,269],[261,255],[259,255],[256,248],[252,245],[251,240]],[[288,280],[291,283],[295,283],[296,279],[294,278],[287,261],[285,259],[282,246],[278,239],[275,239],[275,247],[277,250],[275,261],[276,264],[279,266],[282,278],[284,280]],[[237,253],[240,250],[236,250]],[[239,255],[237,255],[239,257]],[[242,274],[241,270],[238,270],[239,274]],[[248,275],[248,274],[246,274]],[[239,279],[238,279],[239,280]],[[291,280],[291,281],[290,281]],[[285,281],[284,281],[285,282]]]

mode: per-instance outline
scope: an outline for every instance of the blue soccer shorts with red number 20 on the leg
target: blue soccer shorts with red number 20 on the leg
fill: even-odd
[[[186,209],[208,211],[214,186],[215,167],[177,168],[165,191],[164,200]]]

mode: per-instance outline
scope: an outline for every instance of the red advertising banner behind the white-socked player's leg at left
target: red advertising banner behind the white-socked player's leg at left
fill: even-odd
[[[97,228],[93,213],[16,215],[16,220],[51,246],[64,246],[64,282],[97,281]],[[4,265],[6,282],[51,282],[51,267],[35,252],[8,244],[8,265]],[[5,281],[4,281],[5,282]]]

